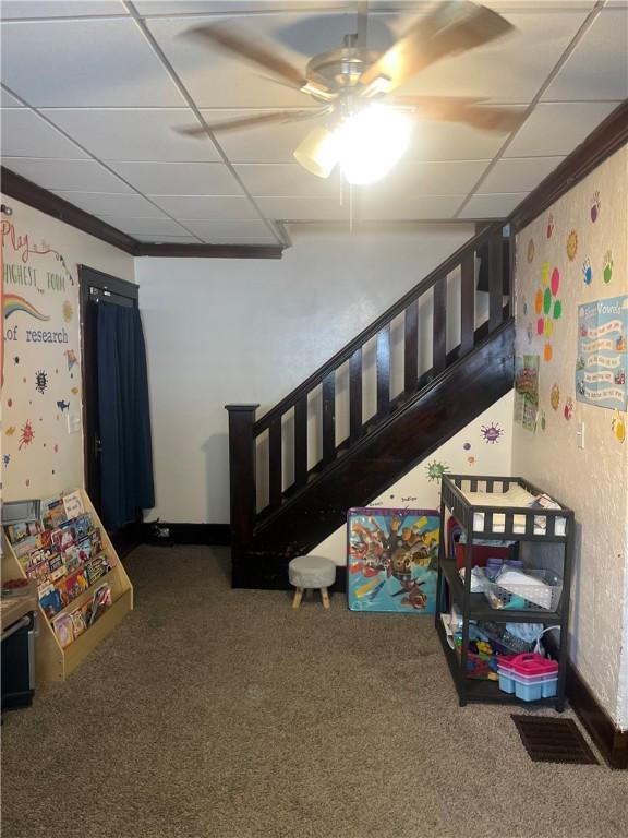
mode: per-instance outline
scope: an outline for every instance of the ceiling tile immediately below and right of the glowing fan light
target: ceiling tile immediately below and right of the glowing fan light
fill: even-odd
[[[401,160],[383,180],[360,187],[357,192],[373,200],[404,195],[466,195],[491,160],[407,163]]]

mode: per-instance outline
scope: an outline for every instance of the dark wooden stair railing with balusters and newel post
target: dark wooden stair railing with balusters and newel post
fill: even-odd
[[[475,258],[480,250],[487,253],[488,307],[483,334],[491,335],[511,316],[510,298],[504,306],[504,223],[491,225],[466,242],[398,302],[363,330],[326,363],[313,372],[302,384],[282,398],[261,419],[255,420],[258,405],[226,405],[229,411],[229,466],[232,555],[242,558],[253,542],[254,530],[261,522],[277,511],[291,498],[303,491],[309,480],[346,454],[365,433],[385,421],[391,411],[416,395],[420,387],[445,372],[452,360],[459,360],[474,349],[478,326],[475,290]],[[512,259],[510,241],[510,254]],[[511,260],[510,260],[511,264]],[[460,272],[459,319],[452,323],[448,310],[448,277]],[[508,285],[506,287],[509,287]],[[428,292],[432,291],[431,300]],[[431,303],[431,310],[430,310]],[[432,367],[422,370],[420,360],[421,312],[432,322]],[[402,390],[391,398],[391,326],[396,319],[403,319],[403,375]],[[447,346],[447,326],[455,326],[459,343],[454,351]],[[363,419],[365,394],[363,373],[365,347],[375,340],[375,402],[376,410],[366,422]],[[337,375],[346,366],[348,372],[348,435],[337,444],[336,399]],[[309,427],[309,400],[314,392],[319,394],[321,410],[316,433],[321,442],[317,462],[311,467]],[[291,414],[292,433],[283,433],[286,416]],[[267,445],[265,474],[256,475],[257,447],[262,438]],[[293,479],[283,486],[285,458],[291,460]],[[259,477],[262,479],[259,479]],[[258,487],[265,484],[267,504],[258,508]]]

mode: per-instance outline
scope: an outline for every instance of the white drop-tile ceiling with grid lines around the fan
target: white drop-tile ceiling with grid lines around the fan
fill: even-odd
[[[416,120],[384,181],[354,189],[292,152],[316,120],[202,140],[173,131],[313,100],[180,35],[225,21],[304,68],[355,32],[354,0],[3,0],[2,164],[143,241],[285,243],[285,225],[507,215],[628,97],[628,2],[493,0],[517,32],[444,60],[401,95],[521,108],[512,134]],[[385,49],[428,7],[370,0]],[[280,224],[277,224],[280,223]]]

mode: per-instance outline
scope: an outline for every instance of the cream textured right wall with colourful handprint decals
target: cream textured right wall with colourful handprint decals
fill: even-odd
[[[538,354],[541,361],[539,424],[535,432],[515,426],[512,464],[515,471],[555,493],[576,513],[570,657],[608,715],[624,728],[628,728],[628,446],[616,430],[617,422],[626,424],[627,419],[625,412],[576,399],[576,360],[578,306],[628,292],[627,168],[624,147],[517,237],[517,352]],[[600,210],[592,215],[596,194]],[[567,252],[571,231],[577,236],[571,238],[577,241],[572,259]],[[608,251],[614,266],[605,282]],[[535,295],[539,288],[545,290],[544,262],[550,272],[558,268],[557,297],[563,304],[548,339],[536,335]],[[583,273],[588,263],[590,284]],[[550,361],[544,360],[546,343],[553,349]],[[551,405],[555,384],[556,410]],[[567,399],[573,403],[570,420],[564,412]],[[584,448],[578,446],[581,424]]]

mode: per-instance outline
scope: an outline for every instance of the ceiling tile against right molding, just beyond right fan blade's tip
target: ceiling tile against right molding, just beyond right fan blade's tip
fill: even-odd
[[[521,125],[504,157],[567,155],[620,104],[542,103]]]

